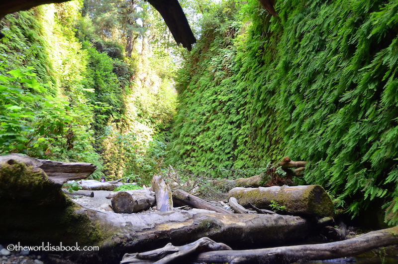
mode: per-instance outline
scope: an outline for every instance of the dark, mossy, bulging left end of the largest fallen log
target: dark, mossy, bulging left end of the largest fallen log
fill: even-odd
[[[79,210],[41,169],[2,163],[0,186],[0,210],[6,212],[0,215],[2,239],[71,245],[96,245],[103,240],[100,223],[90,211]]]

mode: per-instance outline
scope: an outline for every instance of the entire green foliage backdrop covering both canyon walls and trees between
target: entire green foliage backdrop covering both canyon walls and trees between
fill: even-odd
[[[398,224],[398,0],[181,0],[178,46],[146,1],[73,0],[8,14],[0,152],[92,162],[140,185],[309,161],[350,216]]]

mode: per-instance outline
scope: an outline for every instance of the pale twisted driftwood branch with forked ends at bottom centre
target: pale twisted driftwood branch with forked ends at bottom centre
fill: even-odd
[[[214,250],[232,250],[229,246],[223,243],[216,243],[207,237],[198,239],[197,241],[183,245],[173,246],[168,243],[161,249],[147,251],[143,253],[125,254],[120,264],[169,264],[180,261],[183,258],[198,254],[201,252],[214,251]]]

